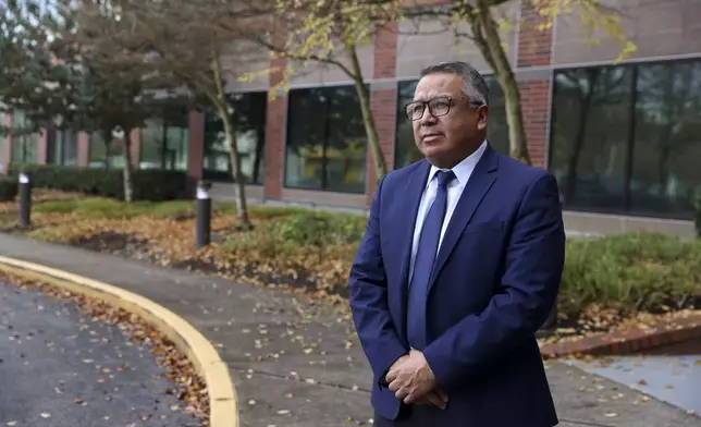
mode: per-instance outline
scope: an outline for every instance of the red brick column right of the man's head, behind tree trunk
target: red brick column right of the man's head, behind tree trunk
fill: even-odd
[[[521,2],[520,17],[516,80],[521,96],[528,152],[533,166],[545,168],[553,75],[553,33],[552,27],[539,28],[545,19],[528,1]]]

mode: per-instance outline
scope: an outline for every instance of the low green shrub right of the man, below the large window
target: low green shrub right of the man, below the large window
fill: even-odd
[[[661,233],[568,239],[558,310],[681,308],[701,295],[701,241]]]

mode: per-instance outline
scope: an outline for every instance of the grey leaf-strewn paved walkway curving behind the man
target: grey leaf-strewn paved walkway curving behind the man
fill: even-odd
[[[234,376],[242,427],[367,424],[370,370],[349,319],[269,289],[0,235],[0,255],[139,293],[190,321]],[[561,426],[701,427],[701,418],[617,382],[549,364]]]

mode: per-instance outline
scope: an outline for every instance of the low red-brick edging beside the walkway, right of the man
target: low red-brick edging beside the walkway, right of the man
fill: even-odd
[[[540,354],[545,359],[580,355],[631,354],[699,337],[701,337],[701,312],[694,312],[687,316],[660,319],[645,328],[622,329],[573,341],[548,343],[540,347]]]

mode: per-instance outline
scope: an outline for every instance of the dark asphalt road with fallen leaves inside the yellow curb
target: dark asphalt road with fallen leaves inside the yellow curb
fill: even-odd
[[[199,426],[119,328],[0,279],[0,426]]]

